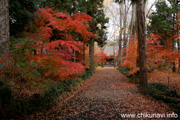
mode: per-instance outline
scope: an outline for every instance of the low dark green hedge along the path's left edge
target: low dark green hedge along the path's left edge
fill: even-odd
[[[31,98],[26,99],[14,98],[11,94],[11,89],[4,87],[4,83],[0,82],[0,116],[10,119],[49,109],[58,100],[66,97],[72,90],[77,89],[82,80],[89,78],[91,75],[90,70],[86,69],[85,74],[80,76],[82,79],[54,82],[54,85],[42,94],[35,93]]]

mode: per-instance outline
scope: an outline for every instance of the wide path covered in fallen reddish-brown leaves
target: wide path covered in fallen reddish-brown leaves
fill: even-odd
[[[114,68],[98,68],[62,105],[31,117],[34,119],[121,119],[122,114],[167,113],[168,107],[138,93],[135,84]],[[128,119],[128,118],[127,118]]]

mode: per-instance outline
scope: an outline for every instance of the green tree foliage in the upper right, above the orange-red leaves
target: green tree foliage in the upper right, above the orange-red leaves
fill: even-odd
[[[167,2],[158,2],[156,11],[152,12],[150,24],[148,25],[149,33],[158,33],[162,38],[159,39],[162,45],[166,44],[166,39],[172,37],[173,26],[177,21],[173,21],[173,14],[177,12],[177,5],[173,0]]]

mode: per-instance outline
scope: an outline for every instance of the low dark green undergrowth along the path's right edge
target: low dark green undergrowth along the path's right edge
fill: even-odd
[[[119,71],[129,77],[130,82],[139,84],[139,72],[129,75],[130,70],[125,67],[121,67]],[[163,101],[175,109],[176,113],[180,113],[180,94],[175,89],[171,89],[162,83],[151,82],[148,83],[148,95],[156,100]]]

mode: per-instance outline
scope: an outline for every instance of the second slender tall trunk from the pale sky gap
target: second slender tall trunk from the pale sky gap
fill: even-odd
[[[125,6],[125,13],[124,13],[124,39],[123,39],[123,56],[126,56],[126,46],[127,46],[127,41],[126,41],[126,18],[127,18],[127,6],[126,6],[126,0],[124,1],[124,6]]]

